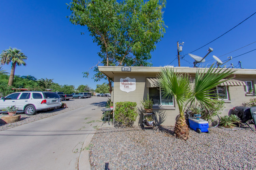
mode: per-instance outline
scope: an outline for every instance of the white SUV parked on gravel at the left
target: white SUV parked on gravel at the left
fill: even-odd
[[[61,106],[60,96],[54,92],[23,91],[16,92],[0,99],[0,112],[7,106],[19,107],[17,112],[34,115],[38,110],[50,110]]]

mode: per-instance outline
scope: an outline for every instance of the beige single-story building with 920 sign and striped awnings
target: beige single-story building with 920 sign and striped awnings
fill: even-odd
[[[171,67],[171,66],[169,66]],[[174,125],[179,115],[178,106],[174,99],[164,99],[161,95],[161,88],[157,82],[157,74],[163,67],[116,67],[99,66],[99,71],[113,80],[114,90],[111,100],[115,104],[121,101],[136,102],[139,116],[135,125],[140,126],[142,117],[140,110],[144,98],[153,99],[153,112],[156,113],[157,125]],[[201,68],[175,67],[174,70],[180,73],[189,73],[194,79],[196,70]],[[255,83],[256,69],[235,69],[234,79],[228,80],[216,87],[216,91],[225,102],[225,109],[221,115],[228,115],[230,109],[256,98]],[[253,94],[249,94],[253,91]]]

